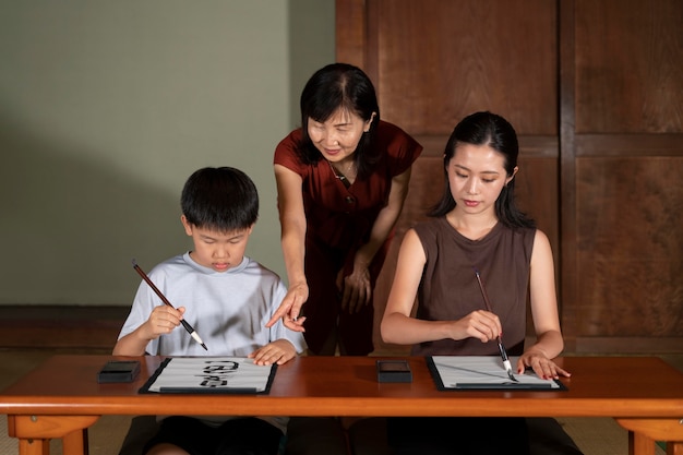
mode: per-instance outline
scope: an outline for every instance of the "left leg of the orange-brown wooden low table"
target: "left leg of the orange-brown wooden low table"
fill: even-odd
[[[88,455],[87,428],[99,416],[8,416],[8,433],[19,438],[20,455],[48,455],[50,440],[61,438],[64,454]]]

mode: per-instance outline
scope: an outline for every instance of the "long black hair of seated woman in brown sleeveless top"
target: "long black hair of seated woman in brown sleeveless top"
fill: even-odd
[[[448,163],[460,144],[488,145],[503,155],[505,171],[511,177],[517,166],[519,144],[515,129],[503,117],[491,112],[476,112],[465,117],[453,130],[443,155],[444,191],[429,216],[444,216],[456,206],[448,182]],[[495,215],[505,226],[536,227],[534,219],[517,208],[515,203],[515,179],[512,179],[495,200]]]

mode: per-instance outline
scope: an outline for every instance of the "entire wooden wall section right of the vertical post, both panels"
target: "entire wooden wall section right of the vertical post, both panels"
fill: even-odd
[[[683,351],[683,2],[574,12],[575,348]]]

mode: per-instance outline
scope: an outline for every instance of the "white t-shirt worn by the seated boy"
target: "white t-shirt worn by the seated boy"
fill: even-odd
[[[149,342],[145,349],[149,355],[247,357],[280,338],[288,339],[297,352],[305,349],[302,334],[288,330],[281,321],[265,326],[287,289],[277,274],[248,256],[236,267],[215,272],[184,253],[158,264],[147,276],[173,307],[185,308],[184,320],[208,348],[204,350],[179,325]],[[147,321],[160,304],[161,299],[143,280],[119,338]]]

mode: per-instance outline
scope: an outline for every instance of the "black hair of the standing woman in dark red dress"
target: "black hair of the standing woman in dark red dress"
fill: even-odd
[[[303,87],[300,108],[302,137],[297,153],[305,164],[322,159],[309,136],[309,119],[322,123],[339,109],[355,113],[364,121],[372,119],[370,130],[363,133],[354,154],[358,177],[366,178],[380,158],[380,151],[371,146],[380,123],[380,106],[370,77],[352,64],[328,64],[317,70]]]

